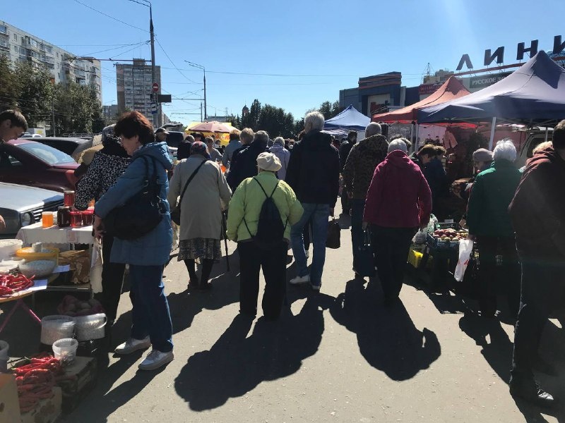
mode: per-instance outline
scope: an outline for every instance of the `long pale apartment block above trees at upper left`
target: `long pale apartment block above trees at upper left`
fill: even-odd
[[[102,102],[102,71],[100,61],[94,58],[78,59],[75,54],[3,20],[0,20],[0,54],[7,56],[14,65],[20,61],[30,61],[37,66],[45,66],[55,83],[72,81],[92,85]]]

